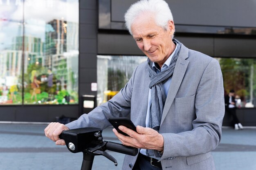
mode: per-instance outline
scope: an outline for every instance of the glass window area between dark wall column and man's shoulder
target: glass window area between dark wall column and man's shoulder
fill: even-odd
[[[146,56],[97,55],[98,106],[117,94],[135,68],[146,60]]]

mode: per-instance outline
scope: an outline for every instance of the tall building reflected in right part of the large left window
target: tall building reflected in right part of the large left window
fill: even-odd
[[[78,23],[52,20],[46,24],[45,67],[52,68],[62,89],[78,91]],[[72,83],[68,83],[72,82]]]

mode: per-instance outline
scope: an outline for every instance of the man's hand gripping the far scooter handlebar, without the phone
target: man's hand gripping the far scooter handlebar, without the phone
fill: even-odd
[[[65,141],[59,138],[63,130],[69,130],[69,128],[64,124],[52,122],[45,128],[45,136],[55,141],[56,145],[65,145]]]

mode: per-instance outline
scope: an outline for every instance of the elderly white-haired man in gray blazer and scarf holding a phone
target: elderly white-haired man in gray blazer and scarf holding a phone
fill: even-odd
[[[126,26],[148,57],[107,103],[78,120],[51,123],[45,135],[58,138],[68,128],[110,126],[109,117],[130,113],[137,132],[115,129],[122,144],[140,148],[126,155],[123,170],[214,170],[211,151],[221,137],[225,112],[222,73],[217,60],[173,39],[175,26],[164,0],[141,0],[125,15]]]

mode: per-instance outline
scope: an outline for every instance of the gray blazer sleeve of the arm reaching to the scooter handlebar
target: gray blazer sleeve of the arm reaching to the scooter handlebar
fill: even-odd
[[[132,73],[132,77],[108,102],[94,108],[90,113],[83,114],[79,119],[72,121],[66,126],[70,129],[95,127],[105,129],[111,124],[108,121],[110,117],[127,117],[130,113],[130,100],[132,96],[133,81],[137,68]]]

